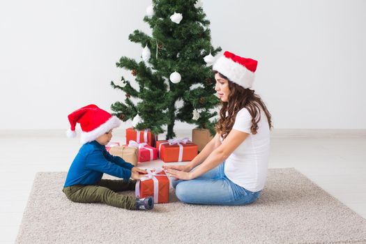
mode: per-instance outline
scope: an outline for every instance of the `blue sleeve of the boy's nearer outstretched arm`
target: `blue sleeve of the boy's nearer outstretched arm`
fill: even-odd
[[[125,164],[130,165],[125,162]],[[92,151],[85,158],[85,166],[89,169],[93,169],[111,176],[123,178],[124,181],[128,181],[131,177],[131,168],[133,167],[121,167],[114,162],[110,162],[105,158],[102,151]]]

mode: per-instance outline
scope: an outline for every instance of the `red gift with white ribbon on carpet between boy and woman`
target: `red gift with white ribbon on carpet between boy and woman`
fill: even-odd
[[[154,204],[169,202],[169,178],[165,171],[161,168],[148,170],[148,174],[136,182],[135,194],[139,198],[153,196]]]

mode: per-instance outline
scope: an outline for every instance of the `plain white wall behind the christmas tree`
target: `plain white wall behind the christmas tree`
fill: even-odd
[[[140,59],[128,40],[149,0],[0,2],[0,129],[68,128],[67,115],[109,110]],[[259,60],[254,89],[275,128],[366,128],[366,1],[204,1],[213,45]],[[126,75],[128,74],[128,75]],[[185,125],[179,124],[178,128]]]

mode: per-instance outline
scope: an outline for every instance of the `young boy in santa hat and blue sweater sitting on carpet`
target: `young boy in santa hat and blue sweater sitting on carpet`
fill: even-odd
[[[105,150],[105,145],[112,138],[112,130],[119,127],[121,121],[96,105],[77,109],[69,114],[68,120],[71,125],[68,137],[75,137],[75,125],[79,123],[82,128],[80,141],[83,145],[70,166],[63,186],[62,191],[66,197],[82,203],[102,202],[119,208],[152,209],[153,197],[138,199],[116,193],[135,190],[135,180],[142,177],[139,173],[147,173]],[[102,179],[103,173],[123,180]]]

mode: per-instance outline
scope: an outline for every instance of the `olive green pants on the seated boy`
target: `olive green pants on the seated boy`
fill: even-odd
[[[128,197],[116,192],[135,190],[136,181],[106,180],[96,185],[70,185],[63,188],[63,193],[70,201],[92,203],[102,202],[118,208],[136,209],[136,197]]]

